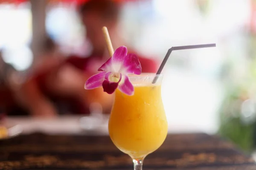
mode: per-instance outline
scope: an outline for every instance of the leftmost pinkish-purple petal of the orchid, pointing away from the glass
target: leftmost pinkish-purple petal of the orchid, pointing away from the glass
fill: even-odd
[[[105,71],[102,71],[98,74],[93,75],[87,81],[85,82],[84,88],[87,90],[93,89],[93,88],[99,88],[102,86],[102,83],[104,81],[104,77],[106,75]]]

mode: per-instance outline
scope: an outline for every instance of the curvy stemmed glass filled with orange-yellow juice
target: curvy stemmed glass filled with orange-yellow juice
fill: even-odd
[[[163,144],[168,131],[161,97],[163,75],[130,75],[129,79],[134,95],[116,89],[108,130],[116,147],[133,159],[134,170],[142,170],[143,159]]]

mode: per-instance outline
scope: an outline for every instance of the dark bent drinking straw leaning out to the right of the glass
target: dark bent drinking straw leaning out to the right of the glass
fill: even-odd
[[[158,68],[157,74],[159,75],[161,74],[164,65],[166,64],[170,54],[172,53],[172,51],[176,51],[176,50],[188,50],[188,49],[195,49],[195,48],[208,48],[208,47],[216,47],[216,44],[201,44],[201,45],[186,45],[186,46],[177,46],[177,47],[172,47],[169,48],[169,50],[166,53],[166,56],[163,59],[163,62],[161,63],[160,67]],[[156,76],[153,80],[153,84],[155,82],[157,82],[158,76]]]

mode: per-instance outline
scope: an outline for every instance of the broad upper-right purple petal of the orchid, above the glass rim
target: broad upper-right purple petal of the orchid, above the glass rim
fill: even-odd
[[[139,57],[136,54],[128,54],[123,61],[123,74],[141,74],[142,68]]]

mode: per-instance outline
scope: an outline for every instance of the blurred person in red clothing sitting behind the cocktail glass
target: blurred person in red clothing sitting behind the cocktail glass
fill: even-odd
[[[113,95],[103,92],[102,88],[84,90],[84,83],[109,58],[103,26],[107,26],[114,48],[125,45],[118,35],[120,6],[112,0],[89,0],[81,5],[79,12],[86,28],[85,38],[90,42],[92,51],[87,57],[72,55],[47,69],[39,69],[24,83],[23,100],[34,116],[111,111]],[[136,52],[128,47],[128,53]],[[156,73],[154,60],[140,55],[139,59],[144,73]]]

